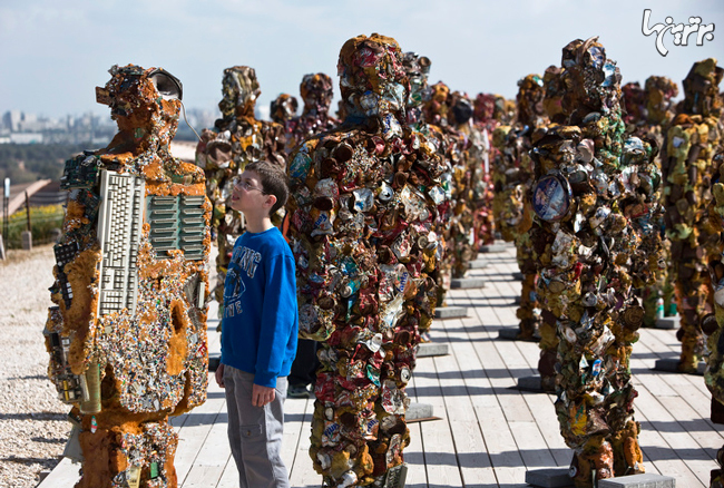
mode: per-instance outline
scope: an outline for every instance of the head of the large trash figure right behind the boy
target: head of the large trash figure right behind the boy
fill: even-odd
[[[373,33],[348,40],[340,51],[337,74],[348,118],[393,114],[404,120],[410,82],[394,39]]]

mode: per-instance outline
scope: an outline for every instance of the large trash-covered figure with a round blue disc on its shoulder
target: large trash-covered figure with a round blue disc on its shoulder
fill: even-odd
[[[556,413],[577,487],[643,472],[632,344],[644,310],[633,294],[658,266],[642,247],[659,211],[655,149],[624,140],[620,74],[596,38],[564,48],[567,126],[534,133],[539,299],[558,334]]]

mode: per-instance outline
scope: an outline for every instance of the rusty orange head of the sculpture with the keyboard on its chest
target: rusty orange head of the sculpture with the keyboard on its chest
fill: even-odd
[[[136,141],[167,146],[178,128],[182,82],[163,68],[112,66],[110,80],[96,88],[96,100],[110,107],[120,133]]]

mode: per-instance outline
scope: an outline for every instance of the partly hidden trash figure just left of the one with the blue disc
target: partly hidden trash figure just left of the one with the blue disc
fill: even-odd
[[[518,267],[522,273],[520,320],[517,339],[532,341],[538,338],[540,322],[536,295],[536,263],[528,231],[532,224],[530,191],[535,168],[529,152],[534,130],[548,123],[545,116],[544,82],[538,75],[528,75],[518,81],[518,115],[512,126],[499,126],[492,135],[498,149],[493,162],[496,228],[507,242],[516,243]]]

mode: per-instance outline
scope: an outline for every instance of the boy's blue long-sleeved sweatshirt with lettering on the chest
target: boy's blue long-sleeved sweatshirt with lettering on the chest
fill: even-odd
[[[294,255],[276,227],[236,240],[224,283],[222,363],[276,387],[296,355]]]

